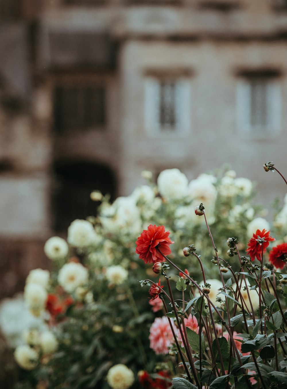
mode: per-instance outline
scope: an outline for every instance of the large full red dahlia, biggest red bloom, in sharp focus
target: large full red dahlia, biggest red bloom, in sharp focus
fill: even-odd
[[[144,263],[164,262],[165,258],[162,254],[169,255],[171,253],[169,248],[171,243],[174,242],[170,240],[169,231],[165,231],[164,226],[157,227],[150,224],[148,229],[144,230],[137,238],[136,253],[139,254],[140,259],[144,260]]]

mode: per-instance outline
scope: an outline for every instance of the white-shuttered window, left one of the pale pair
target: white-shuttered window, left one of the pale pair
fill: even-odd
[[[146,130],[150,133],[186,133],[190,129],[188,79],[147,77],[145,83]]]

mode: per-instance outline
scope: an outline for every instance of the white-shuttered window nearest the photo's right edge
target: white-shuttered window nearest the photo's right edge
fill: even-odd
[[[267,74],[248,75],[238,84],[240,130],[266,137],[280,130],[280,87]]]

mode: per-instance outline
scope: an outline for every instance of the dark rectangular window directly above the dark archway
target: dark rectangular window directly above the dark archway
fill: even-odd
[[[54,95],[54,120],[58,133],[105,124],[103,86],[57,86]]]

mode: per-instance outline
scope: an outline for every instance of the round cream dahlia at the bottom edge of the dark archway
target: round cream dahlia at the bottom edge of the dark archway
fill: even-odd
[[[68,242],[75,247],[87,247],[96,240],[93,225],[87,220],[74,220],[68,228]]]

